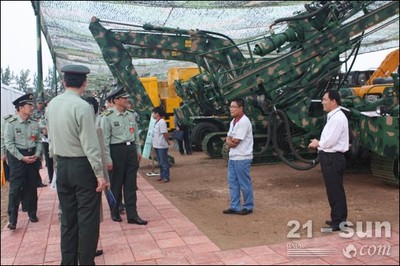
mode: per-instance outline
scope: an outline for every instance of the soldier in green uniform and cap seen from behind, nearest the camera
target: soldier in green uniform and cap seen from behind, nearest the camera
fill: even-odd
[[[50,154],[57,159],[61,264],[92,265],[100,226],[96,177],[103,177],[103,165],[93,109],[79,95],[90,70],[67,65],[61,71],[67,89],[50,101],[45,114]]]

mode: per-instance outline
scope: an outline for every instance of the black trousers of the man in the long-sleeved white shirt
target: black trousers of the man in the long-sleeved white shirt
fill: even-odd
[[[343,153],[319,153],[322,175],[324,177],[329,206],[331,207],[332,226],[339,226],[347,220],[346,193],[343,186],[343,174],[346,159]]]

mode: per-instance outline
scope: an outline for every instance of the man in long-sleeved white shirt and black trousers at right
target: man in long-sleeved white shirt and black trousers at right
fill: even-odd
[[[349,126],[346,115],[340,109],[338,91],[327,91],[322,98],[324,111],[328,113],[327,123],[321,139],[313,139],[309,148],[318,149],[322,175],[324,177],[331,220],[323,231],[343,230],[347,219],[346,193],[343,187],[343,173],[346,169],[344,153],[349,150]]]

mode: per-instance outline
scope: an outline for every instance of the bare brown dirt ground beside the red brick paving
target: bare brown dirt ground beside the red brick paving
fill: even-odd
[[[170,149],[170,155],[175,158],[171,182],[160,184],[156,177],[147,177],[149,160],[143,159],[139,172],[222,250],[295,240],[288,238],[296,223],[288,226],[292,220],[300,225],[311,221],[313,238],[326,235],[320,228],[330,209],[319,166],[308,171],[284,164],[252,166],[254,212],[224,215],[222,210],[229,207],[227,162],[202,152],[182,156]],[[7,223],[7,188],[1,190],[2,229]],[[399,231],[398,187],[382,184],[369,171],[346,171],[345,189],[349,221],[364,226],[367,221],[388,221],[392,230]],[[307,238],[307,227],[293,232]]]

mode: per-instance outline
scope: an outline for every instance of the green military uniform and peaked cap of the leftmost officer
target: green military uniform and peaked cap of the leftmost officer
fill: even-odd
[[[33,94],[16,99],[13,104],[19,108],[25,104],[33,105]],[[4,145],[10,167],[10,191],[8,203],[9,228],[15,229],[18,220],[18,207],[22,198],[26,199],[31,222],[37,222],[37,178],[42,153],[39,124],[24,114],[14,115],[5,123]],[[26,163],[25,156],[36,156],[36,161]]]

